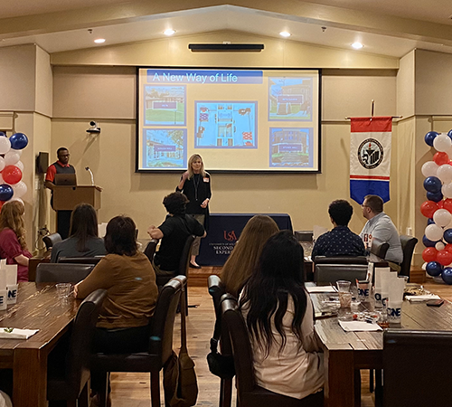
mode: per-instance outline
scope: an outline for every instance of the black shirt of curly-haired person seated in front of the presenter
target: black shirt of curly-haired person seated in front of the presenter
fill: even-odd
[[[179,267],[179,260],[188,236],[202,236],[204,228],[192,215],[167,215],[158,229],[164,233],[160,249],[155,253],[155,264],[160,270],[173,271]]]

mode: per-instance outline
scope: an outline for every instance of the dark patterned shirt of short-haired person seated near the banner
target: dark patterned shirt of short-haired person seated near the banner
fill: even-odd
[[[353,233],[348,226],[336,226],[315,241],[312,259],[315,256],[364,256],[365,249],[361,237]]]

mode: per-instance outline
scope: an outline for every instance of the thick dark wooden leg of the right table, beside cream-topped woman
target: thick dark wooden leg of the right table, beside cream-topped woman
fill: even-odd
[[[327,349],[325,364],[325,407],[352,407],[355,403],[353,349]]]

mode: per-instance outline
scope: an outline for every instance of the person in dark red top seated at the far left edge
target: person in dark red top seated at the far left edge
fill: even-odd
[[[10,201],[0,213],[0,258],[6,264],[17,264],[17,281],[28,281],[28,260],[32,253],[25,241],[24,204]]]

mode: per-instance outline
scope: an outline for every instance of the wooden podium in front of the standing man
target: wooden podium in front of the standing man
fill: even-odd
[[[97,186],[59,185],[53,189],[53,209],[55,211],[72,211],[78,204],[90,204],[97,211],[100,209],[100,191]]]

